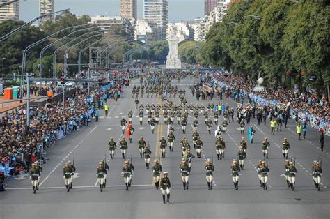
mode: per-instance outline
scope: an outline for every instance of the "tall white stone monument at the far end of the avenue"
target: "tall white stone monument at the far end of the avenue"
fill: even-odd
[[[174,24],[169,24],[169,33],[168,33],[168,47],[169,52],[166,56],[166,68],[175,69],[181,68],[181,60],[178,56],[178,43],[179,39],[176,36],[176,28]]]

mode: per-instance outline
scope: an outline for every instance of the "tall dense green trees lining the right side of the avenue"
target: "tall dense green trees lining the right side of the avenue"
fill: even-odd
[[[206,43],[189,42],[189,52],[180,50],[184,43],[179,50],[189,63],[210,63],[253,80],[260,73],[269,85],[311,85],[327,93],[329,15],[327,0],[239,1],[213,25]],[[311,75],[317,79],[309,80]]]

